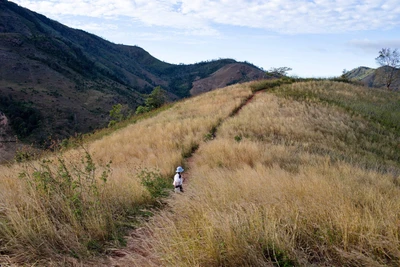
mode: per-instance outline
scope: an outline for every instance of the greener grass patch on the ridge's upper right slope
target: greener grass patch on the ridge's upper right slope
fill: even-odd
[[[346,127],[340,127],[344,122],[341,116],[330,114],[325,118],[330,124],[322,128],[315,125],[314,129],[325,135],[334,135],[342,142],[341,145],[337,142],[325,145],[330,151],[341,149],[342,158],[352,160],[355,157],[369,165],[379,164],[380,167],[400,162],[399,93],[337,82],[295,83],[275,89],[274,93],[306,103],[306,106],[317,104],[336,107],[344,114],[348,121]],[[319,119],[318,114],[314,117],[314,120]]]

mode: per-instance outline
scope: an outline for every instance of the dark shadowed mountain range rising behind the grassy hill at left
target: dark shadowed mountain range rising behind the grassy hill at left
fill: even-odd
[[[156,86],[171,100],[261,79],[249,63],[158,60],[0,0],[0,112],[19,138],[42,143],[107,124],[112,106],[132,110]]]

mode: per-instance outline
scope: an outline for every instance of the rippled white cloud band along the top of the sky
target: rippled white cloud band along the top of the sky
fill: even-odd
[[[62,15],[130,18],[218,35],[215,24],[287,34],[344,33],[400,26],[398,0],[16,0],[57,19]]]

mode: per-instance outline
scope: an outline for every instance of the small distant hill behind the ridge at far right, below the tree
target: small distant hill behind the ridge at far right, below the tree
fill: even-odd
[[[360,81],[368,87],[382,88],[385,87],[384,70],[388,67],[380,67],[377,69],[368,67],[358,67],[348,71],[344,76],[348,79]],[[400,77],[400,70],[397,70],[397,76]],[[394,90],[399,90],[400,79],[393,82],[391,86]]]

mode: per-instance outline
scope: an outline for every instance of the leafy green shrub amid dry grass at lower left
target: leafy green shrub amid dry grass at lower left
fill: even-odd
[[[85,151],[80,163],[57,157],[26,165],[19,174],[30,198],[29,204],[19,207],[20,216],[26,218],[22,225],[2,218],[6,223],[0,225],[0,235],[4,240],[17,238],[16,249],[24,245],[31,255],[48,255],[56,248],[79,257],[94,248],[101,250],[118,235],[105,197],[110,164],[98,173]],[[10,248],[14,242],[9,243]]]

